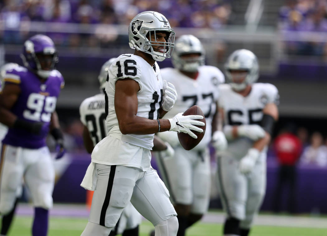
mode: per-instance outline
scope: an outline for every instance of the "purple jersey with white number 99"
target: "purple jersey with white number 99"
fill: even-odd
[[[18,118],[28,122],[43,122],[45,128],[39,135],[26,130],[9,128],[3,143],[16,147],[38,149],[44,147],[49,132],[51,114],[56,109],[57,98],[64,80],[59,71],[51,72],[48,79],[41,83],[39,77],[25,67],[6,71],[5,83],[15,83],[21,88],[21,93],[11,108]]]

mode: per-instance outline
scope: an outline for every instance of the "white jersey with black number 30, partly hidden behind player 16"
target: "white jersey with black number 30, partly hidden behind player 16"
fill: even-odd
[[[85,99],[79,106],[80,120],[85,125],[95,146],[107,136],[104,94]]]

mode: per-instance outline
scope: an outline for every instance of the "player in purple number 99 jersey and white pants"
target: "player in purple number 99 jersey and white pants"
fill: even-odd
[[[0,213],[12,210],[24,178],[35,207],[32,235],[45,236],[55,179],[45,139],[50,131],[57,142],[56,158],[61,158],[65,151],[55,108],[64,80],[54,70],[58,56],[49,37],[26,40],[21,57],[25,67],[6,71],[0,95],[0,122],[9,127],[0,153]]]

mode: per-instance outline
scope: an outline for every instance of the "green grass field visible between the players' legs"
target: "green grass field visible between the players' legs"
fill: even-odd
[[[83,231],[87,219],[51,217],[48,236],[79,236]],[[30,236],[32,218],[17,216],[12,225],[9,236]],[[143,221],[140,236],[148,236],[153,226]],[[198,223],[187,231],[187,236],[220,236],[222,225],[213,223]],[[254,226],[250,236],[326,236],[327,228],[294,228],[277,226]]]

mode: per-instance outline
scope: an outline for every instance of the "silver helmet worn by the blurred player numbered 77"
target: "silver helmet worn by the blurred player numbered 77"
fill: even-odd
[[[191,53],[197,53],[199,56],[190,59],[181,57],[182,55]],[[204,54],[204,48],[198,38],[193,35],[182,35],[176,40],[172,63],[178,70],[195,72],[199,66],[204,65]]]

